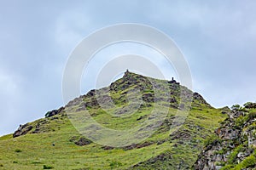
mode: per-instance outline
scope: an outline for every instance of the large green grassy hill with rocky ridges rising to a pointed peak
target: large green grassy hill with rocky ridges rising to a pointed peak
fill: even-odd
[[[152,82],[160,84],[157,89],[160,95],[154,93]],[[193,94],[176,82],[128,72],[108,88],[114,105],[106,98],[106,105],[102,104],[106,108],[102,109],[96,94],[106,96],[106,88],[92,90],[71,101],[64,109],[49,111],[47,117],[21,126],[15,138],[13,134],[1,137],[0,169],[188,169],[196,161],[204,139],[225,118],[221,110],[208,105],[200,94]],[[191,94],[191,106],[186,105],[189,99],[181,99],[182,93]],[[133,108],[137,104],[134,95],[142,101],[138,108]],[[184,107],[189,107],[189,116],[177,132],[170,133],[177,111],[183,113],[182,102]],[[81,135],[79,127],[73,127],[70,121],[71,116],[79,116],[86,109],[104,127],[130,129],[154,120],[151,114],[155,105],[160,106],[156,114],[167,108],[165,121],[149,138],[123,147],[96,144]],[[140,133],[147,131],[142,129]],[[111,141],[111,136],[104,140]]]

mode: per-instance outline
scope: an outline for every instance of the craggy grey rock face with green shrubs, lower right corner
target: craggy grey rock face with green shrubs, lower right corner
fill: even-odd
[[[206,140],[193,169],[256,168],[256,113],[242,108],[230,111],[228,116]]]

